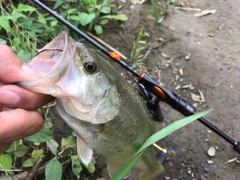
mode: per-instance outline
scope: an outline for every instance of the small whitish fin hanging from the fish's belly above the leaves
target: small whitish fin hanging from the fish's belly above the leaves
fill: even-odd
[[[91,159],[93,157],[93,150],[79,136],[77,137],[77,152],[81,161],[85,165],[88,165],[91,162]]]

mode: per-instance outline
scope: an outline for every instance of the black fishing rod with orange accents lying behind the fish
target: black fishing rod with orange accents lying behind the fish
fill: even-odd
[[[87,34],[83,33],[81,30],[79,30],[77,27],[73,26],[70,22],[62,18],[60,15],[58,15],[56,12],[45,6],[43,3],[41,3],[39,0],[29,0],[30,2],[34,2],[36,5],[38,5],[40,8],[48,12],[50,15],[55,17],[58,21],[63,23],[65,26],[70,28],[71,30],[75,31],[77,34],[82,36],[85,40],[87,40],[89,43],[93,44],[96,48],[100,49],[105,55],[111,57],[115,62],[120,64],[123,68],[130,71],[134,76],[138,78],[138,82],[141,83],[147,91],[152,92],[154,95],[156,95],[159,99],[166,102],[168,105],[170,105],[173,109],[177,110],[184,116],[190,116],[196,113],[195,108],[190,105],[187,101],[177,96],[174,92],[164,88],[163,86],[160,86],[155,80],[153,80],[148,74],[146,73],[139,73],[138,71],[134,70],[131,66],[129,66],[127,63],[125,63],[123,60],[121,60],[120,55],[118,55],[115,52],[110,52],[108,49],[103,47],[101,44],[96,42],[94,39],[92,39]],[[230,143],[233,146],[233,149],[240,154],[240,141],[235,141],[231,137],[229,137],[227,134],[225,134],[223,131],[219,130],[217,127],[215,127],[213,124],[208,122],[204,118],[199,118],[199,122],[201,122],[203,125],[208,127],[210,130],[215,132],[217,135],[219,135],[221,138],[226,140],[228,143]]]

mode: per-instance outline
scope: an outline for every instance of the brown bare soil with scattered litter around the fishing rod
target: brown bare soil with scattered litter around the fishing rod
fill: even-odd
[[[144,39],[147,44],[143,44],[145,48],[141,51],[145,55],[144,66],[138,69],[147,71],[161,85],[196,106],[198,111],[214,109],[206,119],[238,141],[240,1],[182,1],[180,4],[184,8],[216,12],[195,17],[194,14],[199,12],[171,5],[161,23],[155,23],[149,2],[134,5],[119,1],[118,4],[121,6],[119,11],[129,20],[123,26],[112,24],[107,27],[104,29],[106,35],[100,38],[129,56],[134,37],[143,27],[149,37]],[[126,71],[123,72],[128,80],[132,79]],[[160,129],[183,117],[165,103],[161,103],[161,108],[164,121],[157,122]],[[198,121],[158,144],[168,151],[163,179],[240,179],[239,154]],[[213,157],[207,153],[210,147],[216,149]],[[226,163],[233,158],[238,160]],[[108,179],[101,159],[97,159],[97,172],[84,174],[81,179]],[[137,170],[134,170],[128,179],[137,179],[136,174]]]

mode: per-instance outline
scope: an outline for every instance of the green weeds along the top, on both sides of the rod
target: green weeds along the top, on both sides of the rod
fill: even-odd
[[[102,26],[111,19],[126,21],[123,14],[112,15],[114,5],[109,0],[99,3],[97,0],[66,3],[58,0],[54,8],[59,14],[80,29],[92,28],[102,33]],[[81,11],[79,11],[81,10]],[[69,30],[48,14],[40,13],[35,7],[26,4],[14,4],[12,1],[0,1],[0,43],[8,44],[24,62],[33,57],[37,47],[49,42],[61,31]],[[75,34],[72,34],[76,37]]]

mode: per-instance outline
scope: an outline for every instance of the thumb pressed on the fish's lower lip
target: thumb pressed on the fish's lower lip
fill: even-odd
[[[27,66],[6,46],[0,44],[0,81],[14,83],[37,79],[38,75]],[[9,73],[10,72],[10,73]]]

